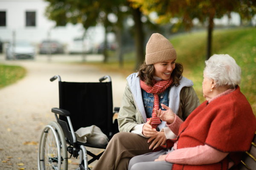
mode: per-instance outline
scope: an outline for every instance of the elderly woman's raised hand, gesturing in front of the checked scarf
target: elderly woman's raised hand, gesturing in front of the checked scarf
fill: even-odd
[[[159,110],[155,109],[154,111],[156,112],[157,116],[160,117],[160,119],[165,122],[172,123],[175,119],[175,113],[168,106],[164,104],[161,104],[161,106],[164,109],[166,109],[166,111],[162,111],[161,109]]]

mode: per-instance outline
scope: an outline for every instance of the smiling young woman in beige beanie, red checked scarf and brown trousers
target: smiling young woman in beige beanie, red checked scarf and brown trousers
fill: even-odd
[[[132,157],[175,138],[154,111],[161,104],[172,108],[182,120],[200,105],[193,82],[182,76],[183,66],[176,59],[172,43],[161,34],[152,34],[145,62],[137,73],[127,77],[118,114],[120,133],[110,140],[93,170],[127,170]]]

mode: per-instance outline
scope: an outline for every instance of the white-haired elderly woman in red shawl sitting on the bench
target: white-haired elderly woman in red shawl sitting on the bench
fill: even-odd
[[[156,152],[135,156],[128,169],[236,169],[242,152],[250,149],[256,130],[256,118],[238,85],[240,75],[241,68],[229,55],[210,57],[204,69],[206,101],[184,122],[162,105],[166,111],[156,113],[177,135],[176,139],[168,139],[166,146],[158,147]]]

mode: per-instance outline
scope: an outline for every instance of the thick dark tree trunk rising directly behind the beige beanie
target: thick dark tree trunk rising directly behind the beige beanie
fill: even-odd
[[[136,68],[144,61],[144,34],[143,34],[143,23],[140,20],[141,12],[139,8],[133,9],[132,14],[135,22],[135,50],[136,50]]]

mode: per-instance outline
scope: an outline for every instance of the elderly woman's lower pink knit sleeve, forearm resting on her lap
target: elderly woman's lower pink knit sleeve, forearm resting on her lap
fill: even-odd
[[[175,164],[213,164],[224,159],[229,153],[224,153],[208,145],[188,147],[174,150],[166,156],[166,161]]]

